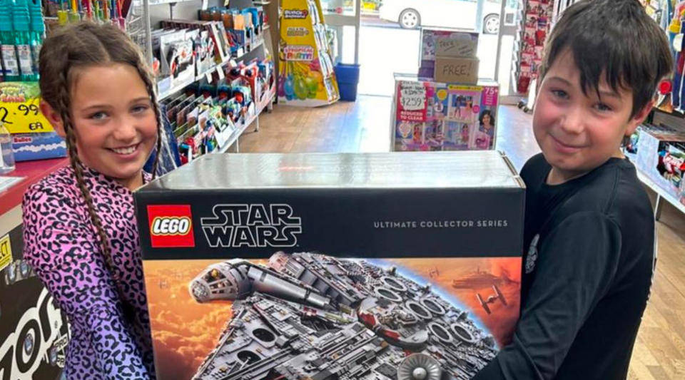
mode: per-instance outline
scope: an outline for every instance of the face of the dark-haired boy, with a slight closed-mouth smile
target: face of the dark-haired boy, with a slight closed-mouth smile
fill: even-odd
[[[550,183],[563,183],[622,157],[621,140],[646,118],[652,102],[631,118],[633,94],[612,90],[604,79],[585,95],[571,51],[559,54],[537,93],[533,114],[535,139],[552,165]],[[554,180],[552,180],[554,178]]]

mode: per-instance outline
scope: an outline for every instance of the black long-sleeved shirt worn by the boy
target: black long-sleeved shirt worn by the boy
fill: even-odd
[[[521,171],[521,318],[475,380],[626,379],[656,258],[651,202],[628,160],[562,185],[550,169],[540,154]]]

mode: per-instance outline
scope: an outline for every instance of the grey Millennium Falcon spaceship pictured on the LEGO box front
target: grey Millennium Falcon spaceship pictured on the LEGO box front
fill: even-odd
[[[466,380],[497,354],[493,337],[430,284],[363,260],[228,260],[189,290],[197,302],[233,301],[193,379]]]

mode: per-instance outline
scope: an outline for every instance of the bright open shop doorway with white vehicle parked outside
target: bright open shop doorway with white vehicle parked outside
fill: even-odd
[[[480,2],[480,4],[479,4]],[[478,7],[482,6],[479,12]],[[420,28],[480,31],[479,77],[494,79],[501,0],[367,0],[362,1],[357,92],[392,96],[394,73],[417,73]],[[477,14],[482,14],[482,19]],[[480,19],[480,20],[479,20]],[[343,34],[342,59],[354,51],[353,34]]]

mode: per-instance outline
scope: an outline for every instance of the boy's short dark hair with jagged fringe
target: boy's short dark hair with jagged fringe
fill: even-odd
[[[619,86],[632,90],[631,118],[651,100],[659,81],[673,68],[666,32],[647,16],[638,0],[583,0],[569,6],[549,34],[540,78],[567,48],[580,70],[580,86],[586,95],[598,91],[602,73],[614,91]]]

